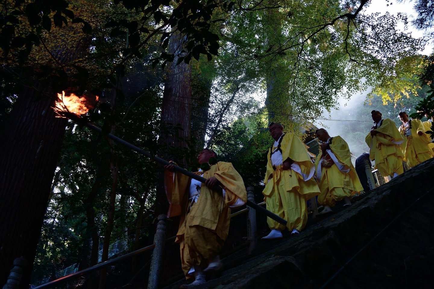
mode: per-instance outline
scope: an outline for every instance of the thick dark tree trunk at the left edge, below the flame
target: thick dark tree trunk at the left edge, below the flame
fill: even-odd
[[[0,286],[13,260],[23,256],[20,288],[28,288],[41,226],[51,192],[66,120],[54,117],[53,94],[19,95],[2,129],[0,143]]]

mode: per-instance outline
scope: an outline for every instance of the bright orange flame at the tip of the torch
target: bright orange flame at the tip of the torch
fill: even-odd
[[[75,94],[65,95],[65,91],[62,91],[62,94],[57,94],[58,99],[56,100],[56,106],[53,107],[56,112],[56,117],[64,117],[65,112],[70,112],[76,114],[78,116],[85,114],[89,111],[90,108],[94,106],[86,99],[85,96],[78,97]],[[96,101],[98,101],[98,96],[95,95]],[[89,108],[88,108],[89,107]]]

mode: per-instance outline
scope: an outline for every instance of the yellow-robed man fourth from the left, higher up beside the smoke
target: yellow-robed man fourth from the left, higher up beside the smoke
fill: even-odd
[[[375,169],[383,177],[395,178],[404,172],[400,147],[404,139],[391,119],[382,119],[378,110],[372,110],[371,114],[374,126],[365,138],[370,148],[369,157],[375,160]]]

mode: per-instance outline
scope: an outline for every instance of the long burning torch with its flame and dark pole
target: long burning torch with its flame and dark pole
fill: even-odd
[[[57,94],[58,100],[56,101],[55,107],[53,107],[54,111],[56,112],[56,117],[61,117],[61,118],[68,118],[71,120],[75,120],[81,124],[83,124],[86,127],[89,127],[91,130],[94,130],[98,133],[103,133],[102,129],[99,127],[96,127],[94,124],[90,123],[89,121],[84,121],[80,118],[81,115],[87,113],[89,111],[90,108],[93,108],[93,105],[91,104],[90,101],[88,101],[86,99],[86,97],[78,97],[75,94],[69,94],[66,95],[65,91],[62,91],[62,94]],[[95,103],[98,101],[99,97],[95,96],[96,100]],[[131,144],[126,142],[125,140],[122,140],[120,138],[118,138],[117,136],[112,135],[111,133],[105,133],[105,136],[107,136],[109,139],[114,140],[116,143],[119,143],[123,146],[126,146],[132,150],[134,150],[135,152],[144,155],[146,157],[148,157],[149,159],[154,160],[155,162],[159,162],[162,165],[174,165],[171,162],[166,161],[165,159],[161,159],[158,156],[154,156],[151,153]],[[193,172],[189,172],[186,169],[183,169],[179,166],[175,166],[174,165],[174,170],[177,172],[180,172],[181,174],[187,175],[188,177],[195,179],[199,182],[205,183],[206,179],[196,175]],[[220,191],[222,190],[221,187],[216,186],[213,189]],[[283,224],[286,226],[286,220],[284,220],[283,218],[280,218],[279,216],[277,216],[276,214],[273,214],[272,212],[266,210],[265,208],[261,207],[260,205],[257,205],[256,203],[253,203],[252,201],[247,200],[247,205],[250,206],[251,208],[254,208],[256,211],[261,211],[263,214],[266,214],[266,216],[272,218],[273,220],[279,222],[280,224]]]

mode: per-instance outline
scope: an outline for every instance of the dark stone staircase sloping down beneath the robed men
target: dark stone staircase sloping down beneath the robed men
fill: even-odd
[[[244,248],[224,257],[224,269],[195,288],[434,288],[433,176],[431,159],[310,220],[299,235],[286,232],[259,240],[252,255]]]

